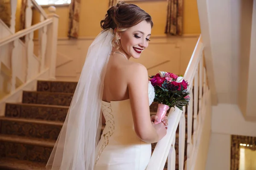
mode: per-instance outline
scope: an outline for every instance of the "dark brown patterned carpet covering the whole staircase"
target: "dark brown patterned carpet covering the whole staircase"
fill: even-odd
[[[23,91],[22,103],[6,103],[5,117],[0,117],[0,170],[45,169],[76,85],[77,82],[38,81],[37,91]],[[156,112],[157,104],[151,105],[150,110]],[[155,145],[152,144],[152,151]],[[175,149],[178,170],[178,130]]]

